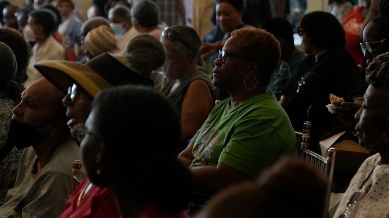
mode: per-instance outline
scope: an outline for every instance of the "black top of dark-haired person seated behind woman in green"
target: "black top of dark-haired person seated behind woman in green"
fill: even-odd
[[[312,58],[308,59],[302,69],[307,71],[302,72],[298,83],[292,85],[295,92],[289,94],[292,96],[287,96],[290,102],[283,105],[295,130],[302,128],[304,121],[308,120],[307,116],[316,119],[330,115],[325,108],[325,105],[330,104],[330,94],[342,97],[346,102],[354,102],[367,89],[361,71],[344,48],[326,51],[317,62]],[[307,114],[309,107],[310,114]],[[313,126],[328,124],[328,119],[323,118],[322,121],[313,123]]]

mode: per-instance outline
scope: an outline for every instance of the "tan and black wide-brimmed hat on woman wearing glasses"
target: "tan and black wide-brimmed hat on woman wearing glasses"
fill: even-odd
[[[86,64],[41,61],[34,67],[64,93],[67,93],[68,87],[74,82],[80,84],[92,97],[101,90],[116,85],[153,85],[151,79],[132,71],[107,53],[91,59]]]

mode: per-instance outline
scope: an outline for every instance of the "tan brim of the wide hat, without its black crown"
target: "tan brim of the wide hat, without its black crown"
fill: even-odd
[[[103,77],[87,65],[70,61],[41,61],[34,65],[43,76],[63,93],[74,82],[95,97],[101,90],[111,87]]]

